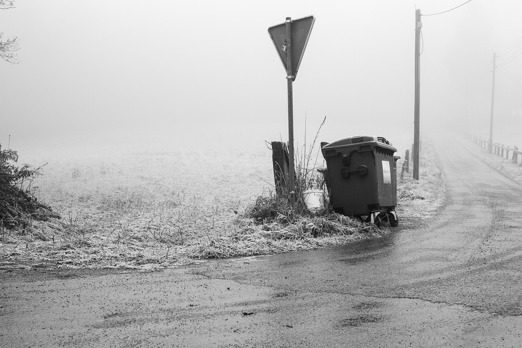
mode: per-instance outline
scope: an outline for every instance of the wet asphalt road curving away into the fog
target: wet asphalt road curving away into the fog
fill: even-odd
[[[448,202],[425,226],[163,272],[3,274],[0,346],[520,347],[522,187],[437,149]]]

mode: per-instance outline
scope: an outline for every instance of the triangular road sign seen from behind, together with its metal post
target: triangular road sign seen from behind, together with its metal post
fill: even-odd
[[[301,59],[312,27],[314,26],[315,17],[307,16],[292,20],[287,17],[284,23],[268,28],[268,34],[274,42],[277,53],[281,58],[284,70],[287,74],[288,88],[288,152],[289,152],[289,194],[292,199],[295,193],[295,163],[294,163],[294,139],[293,139],[293,94],[292,82],[295,80]]]

